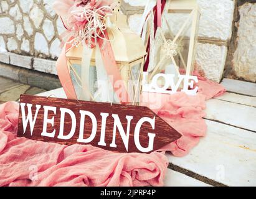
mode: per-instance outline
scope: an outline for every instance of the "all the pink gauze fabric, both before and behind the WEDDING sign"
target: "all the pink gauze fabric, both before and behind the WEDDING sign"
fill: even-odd
[[[205,100],[225,90],[201,77],[198,86],[196,96],[150,94],[161,101],[153,110],[183,134],[162,150],[183,156],[206,134]],[[18,103],[0,105],[0,186],[164,185],[168,167],[164,152],[119,154],[90,145],[65,146],[16,137],[18,111]]]

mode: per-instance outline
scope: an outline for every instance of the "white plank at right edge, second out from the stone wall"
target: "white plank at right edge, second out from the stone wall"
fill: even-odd
[[[219,99],[206,102],[206,118],[256,131],[256,108]]]

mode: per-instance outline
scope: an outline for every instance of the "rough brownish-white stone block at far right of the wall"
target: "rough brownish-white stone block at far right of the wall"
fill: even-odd
[[[256,82],[256,1],[237,1],[224,76]]]

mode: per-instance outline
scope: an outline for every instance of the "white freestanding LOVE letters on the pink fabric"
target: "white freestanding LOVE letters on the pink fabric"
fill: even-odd
[[[158,73],[153,76],[151,83],[148,83],[148,72],[143,72],[142,86],[144,92],[173,94],[177,93],[181,83],[183,83],[183,91],[187,95],[196,95],[198,86],[194,88],[194,83],[198,83],[197,76],[178,75],[178,81],[174,81],[175,75]],[[161,81],[163,80],[163,81]],[[161,85],[159,86],[159,81]]]

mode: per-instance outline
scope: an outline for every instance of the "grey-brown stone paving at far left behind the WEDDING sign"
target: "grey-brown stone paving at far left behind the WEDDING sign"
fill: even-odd
[[[6,101],[17,101],[21,94],[36,95],[46,90],[0,76],[0,104]]]

